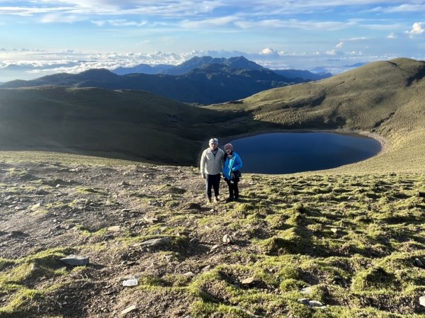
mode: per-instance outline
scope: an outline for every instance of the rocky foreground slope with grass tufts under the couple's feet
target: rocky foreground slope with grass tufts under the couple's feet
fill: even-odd
[[[424,317],[424,179],[0,161],[0,317]]]

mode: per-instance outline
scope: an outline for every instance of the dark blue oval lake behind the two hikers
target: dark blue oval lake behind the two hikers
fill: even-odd
[[[275,132],[230,142],[244,163],[242,172],[291,174],[331,169],[373,157],[380,142],[332,132]]]

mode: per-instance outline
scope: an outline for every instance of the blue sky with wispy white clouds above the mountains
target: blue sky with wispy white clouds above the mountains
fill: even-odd
[[[425,59],[425,0],[0,0],[0,82],[244,57],[338,74]]]

